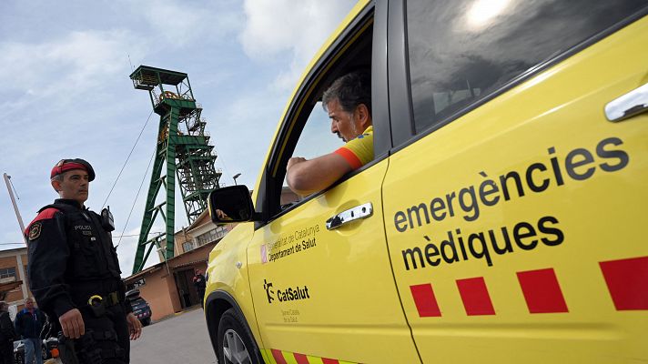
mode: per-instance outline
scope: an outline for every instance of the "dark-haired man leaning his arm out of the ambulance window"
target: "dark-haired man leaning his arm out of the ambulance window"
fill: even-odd
[[[340,177],[373,159],[371,76],[353,72],[339,77],[324,92],[322,106],[329,112],[330,131],[346,143],[327,155],[291,157],[287,181],[290,189],[306,196],[334,184]]]

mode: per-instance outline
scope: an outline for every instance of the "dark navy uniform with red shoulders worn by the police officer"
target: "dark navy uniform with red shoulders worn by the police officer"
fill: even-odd
[[[127,363],[126,316],[132,308],[124,297],[116,249],[106,229],[100,215],[76,200],[58,198],[43,207],[25,229],[29,288],[38,307],[56,323],[70,309],[81,311],[90,339],[78,340],[80,357],[88,353],[87,358],[100,355],[104,363]],[[88,298],[95,295],[104,298],[102,313],[88,306]],[[86,343],[93,348],[83,348]]]

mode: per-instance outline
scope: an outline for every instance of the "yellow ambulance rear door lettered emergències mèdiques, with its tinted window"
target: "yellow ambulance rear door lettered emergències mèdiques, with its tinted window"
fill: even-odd
[[[423,362],[648,360],[646,5],[390,3],[386,234]]]

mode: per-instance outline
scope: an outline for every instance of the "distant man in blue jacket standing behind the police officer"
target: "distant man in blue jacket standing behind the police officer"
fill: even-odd
[[[40,332],[45,325],[46,317],[40,309],[34,307],[34,299],[25,299],[25,308],[15,315],[15,333],[25,343],[25,364],[43,364]]]

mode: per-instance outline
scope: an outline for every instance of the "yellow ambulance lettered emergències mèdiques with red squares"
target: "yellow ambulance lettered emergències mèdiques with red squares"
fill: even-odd
[[[648,362],[646,15],[646,0],[360,1],[253,192],[210,196],[215,222],[239,222],[209,256],[218,362]],[[287,201],[289,158],[339,143],[323,91],[358,69],[373,160]]]

